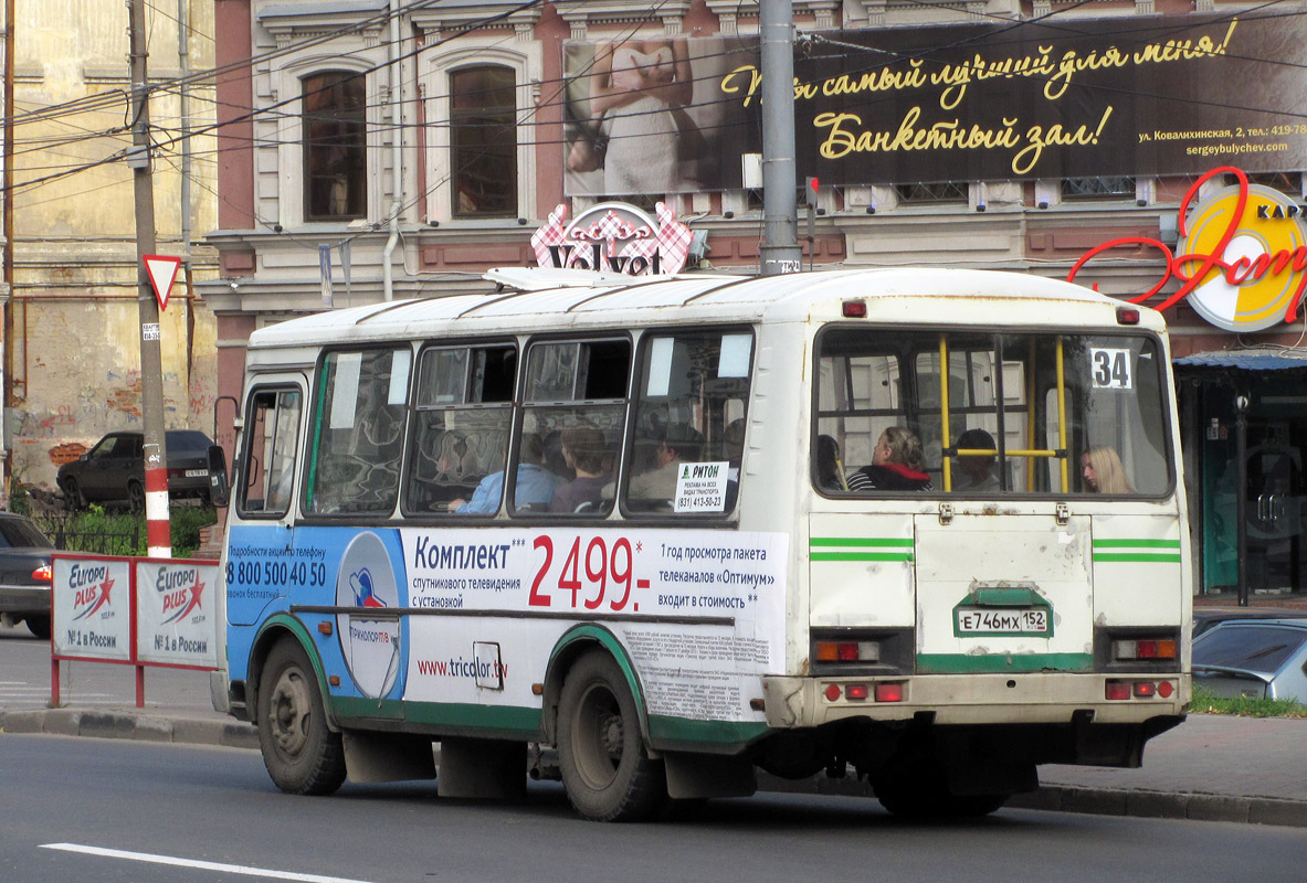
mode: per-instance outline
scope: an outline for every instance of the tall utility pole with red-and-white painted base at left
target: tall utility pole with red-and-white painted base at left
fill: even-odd
[[[141,321],[141,423],[145,435],[145,543],[152,558],[171,558],[167,512],[167,445],[163,435],[163,359],[159,311],[145,256],[154,253],[154,179],[150,169],[150,95],[145,57],[145,0],[129,0],[132,170],[136,201],[136,302]]]

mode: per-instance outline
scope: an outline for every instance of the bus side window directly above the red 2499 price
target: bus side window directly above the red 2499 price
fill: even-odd
[[[626,340],[532,344],[514,513],[595,517],[612,511],[630,370]]]

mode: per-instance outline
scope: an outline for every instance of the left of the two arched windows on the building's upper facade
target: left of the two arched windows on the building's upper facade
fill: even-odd
[[[367,84],[333,71],[305,77],[305,219],[367,212]]]

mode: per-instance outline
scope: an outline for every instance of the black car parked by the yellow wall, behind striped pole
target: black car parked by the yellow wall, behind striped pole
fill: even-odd
[[[199,430],[167,430],[169,496],[196,498],[209,502],[209,445],[213,442]],[[88,503],[145,508],[144,435],[110,432],[95,447],[59,468],[56,481],[68,504],[85,508]]]

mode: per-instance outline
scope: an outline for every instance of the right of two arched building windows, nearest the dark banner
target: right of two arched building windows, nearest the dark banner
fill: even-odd
[[[454,217],[518,216],[516,80],[484,65],[450,74]]]

